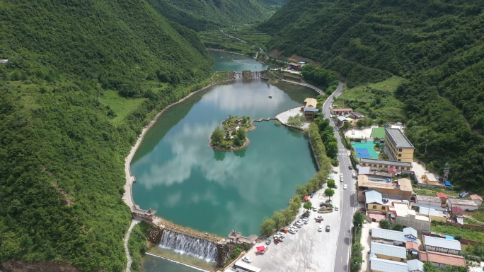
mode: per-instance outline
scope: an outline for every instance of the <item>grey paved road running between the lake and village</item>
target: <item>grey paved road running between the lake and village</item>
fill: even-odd
[[[323,113],[325,117],[330,116],[330,106],[333,105],[334,97],[338,97],[342,93],[342,83],[338,85],[335,92],[330,95],[328,100],[325,101],[323,105]],[[348,167],[351,165],[350,157],[347,154],[345,146],[342,145],[338,130],[335,126],[333,120],[330,121],[331,126],[335,127],[335,137],[338,140],[338,160],[340,160],[340,172],[343,174],[343,182],[340,182],[340,187],[343,184],[347,185],[347,189],[343,189],[340,198],[340,209],[341,209],[341,225],[338,236],[338,245],[336,247],[335,256],[335,272],[345,272],[350,271],[348,266],[350,258],[351,249],[351,227],[353,220],[353,213],[355,213],[355,208],[357,206],[356,202],[356,190],[355,182],[356,179],[352,178],[353,172],[355,170],[350,170]],[[336,181],[338,182],[339,179]]]

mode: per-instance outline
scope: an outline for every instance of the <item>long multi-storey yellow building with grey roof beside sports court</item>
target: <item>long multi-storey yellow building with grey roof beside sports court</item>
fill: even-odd
[[[400,129],[385,129],[384,150],[390,160],[413,162],[415,147]]]

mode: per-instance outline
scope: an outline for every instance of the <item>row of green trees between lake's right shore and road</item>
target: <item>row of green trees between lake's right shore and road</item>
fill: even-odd
[[[326,156],[324,143],[321,140],[319,129],[316,124],[311,123],[309,126],[309,134],[311,143],[313,143],[316,158],[319,165],[321,165],[321,170],[311,177],[307,184],[298,185],[296,187],[296,195],[292,197],[291,201],[289,201],[289,206],[287,208],[284,208],[281,211],[275,211],[272,218],[264,218],[259,227],[261,235],[272,235],[275,230],[279,230],[281,227],[289,225],[289,223],[291,223],[296,217],[299,208],[301,208],[301,201],[304,196],[321,189],[326,182],[326,177],[328,177],[331,167],[330,158]]]

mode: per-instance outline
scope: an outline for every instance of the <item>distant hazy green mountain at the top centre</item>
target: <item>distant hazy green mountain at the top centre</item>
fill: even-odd
[[[222,26],[256,23],[270,17],[271,6],[284,0],[148,0],[162,16],[202,31]]]

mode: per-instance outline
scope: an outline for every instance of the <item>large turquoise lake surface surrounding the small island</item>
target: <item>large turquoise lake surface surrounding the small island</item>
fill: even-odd
[[[272,95],[272,99],[268,98]],[[226,237],[259,234],[265,216],[285,208],[296,184],[316,173],[309,141],[298,131],[255,122],[240,151],[213,150],[209,136],[229,117],[275,115],[315,97],[309,88],[265,80],[214,85],[166,110],[131,164],[133,199],[173,223]]]

